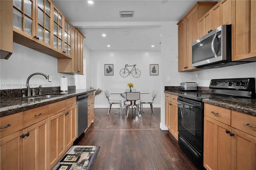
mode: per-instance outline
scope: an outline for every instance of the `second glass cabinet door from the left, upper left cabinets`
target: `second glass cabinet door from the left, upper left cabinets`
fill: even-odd
[[[48,0],[37,0],[37,39],[50,45],[51,34],[51,5],[52,2]]]

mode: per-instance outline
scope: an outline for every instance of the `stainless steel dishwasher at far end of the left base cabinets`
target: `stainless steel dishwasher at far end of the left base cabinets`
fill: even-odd
[[[88,95],[77,96],[77,138],[88,127]]]

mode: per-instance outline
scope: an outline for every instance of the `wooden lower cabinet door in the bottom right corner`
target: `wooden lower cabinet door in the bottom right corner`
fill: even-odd
[[[232,128],[232,164],[233,170],[256,169],[256,137]]]

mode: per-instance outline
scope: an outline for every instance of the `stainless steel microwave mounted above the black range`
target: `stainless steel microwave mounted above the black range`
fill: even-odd
[[[247,62],[231,62],[231,25],[222,25],[192,43],[192,67],[218,68]]]

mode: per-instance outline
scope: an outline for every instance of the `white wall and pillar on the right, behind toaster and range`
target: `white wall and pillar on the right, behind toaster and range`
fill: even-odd
[[[178,21],[177,21],[178,22]],[[165,103],[164,103],[164,86],[179,86],[182,81],[194,81],[198,86],[208,87],[211,79],[221,78],[256,78],[256,63],[247,63],[218,69],[206,69],[194,72],[178,72],[178,26],[177,22],[162,23],[161,37],[161,123],[160,128],[167,130],[165,122]],[[199,81],[196,81],[195,73],[199,75]],[[167,82],[167,77],[171,77],[171,82]]]

